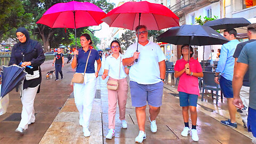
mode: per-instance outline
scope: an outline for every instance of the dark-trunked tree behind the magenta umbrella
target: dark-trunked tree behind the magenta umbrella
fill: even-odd
[[[34,23],[38,21],[43,13],[48,10],[52,5],[62,2],[70,2],[71,0],[24,0],[23,5],[25,6],[26,12],[31,12],[34,14]],[[85,2],[83,0],[76,0],[78,2]],[[107,0],[86,0],[86,2],[91,2],[97,6],[99,6],[103,11],[109,12],[111,9],[113,9],[114,5],[111,3],[108,3]],[[78,28],[76,30],[77,36],[82,35],[85,28]],[[45,25],[38,24],[37,25],[37,38],[41,39],[43,41],[44,45],[44,51],[47,51],[48,46],[58,46],[61,43],[68,44],[70,43],[69,36],[72,34],[75,34],[74,29],[67,29],[67,33],[65,33],[64,28],[50,28]],[[93,32],[93,31],[92,31]]]

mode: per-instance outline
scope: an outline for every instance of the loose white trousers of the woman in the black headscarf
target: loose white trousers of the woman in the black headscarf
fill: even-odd
[[[34,109],[34,100],[36,97],[36,92],[38,90],[39,85],[36,87],[28,87],[25,90],[21,91],[21,103],[22,103],[22,111],[21,111],[21,121],[18,127],[22,129],[28,129],[28,123],[35,122],[35,109]]]

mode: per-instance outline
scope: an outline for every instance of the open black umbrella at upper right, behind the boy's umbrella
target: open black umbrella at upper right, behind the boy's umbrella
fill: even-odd
[[[212,29],[231,29],[238,27],[246,27],[250,25],[251,22],[245,18],[223,18],[213,21],[207,21],[204,26],[209,26]]]

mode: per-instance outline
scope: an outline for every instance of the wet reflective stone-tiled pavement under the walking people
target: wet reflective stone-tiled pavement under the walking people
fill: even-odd
[[[36,121],[29,125],[25,135],[21,136],[14,132],[20,121],[22,109],[18,93],[10,93],[10,104],[7,113],[0,116],[0,143],[135,143],[139,129],[135,108],[131,106],[131,95],[128,93],[126,105],[127,129],[122,129],[119,120],[119,111],[116,113],[115,137],[106,140],[108,133],[108,95],[106,82],[99,77],[97,79],[97,94],[93,103],[93,110],[90,121],[91,137],[83,137],[82,126],[78,123],[78,110],[74,103],[72,94],[73,87],[70,86],[74,70],[70,64],[63,68],[64,79],[54,81],[45,79],[43,72],[43,81],[41,92],[36,95],[35,113]],[[100,71],[102,74],[102,69]],[[146,120],[147,139],[143,143],[251,143],[251,133],[244,129],[242,119],[237,114],[238,128],[232,129],[220,124],[220,120],[229,117],[227,111],[226,99],[220,100],[218,106],[215,105],[215,99],[212,99],[211,93],[198,98],[197,105],[197,131],[199,141],[193,142],[191,137],[182,137],[184,123],[181,107],[179,106],[179,97],[177,96],[177,86],[175,80],[169,76],[164,85],[163,106],[156,118],[158,130],[156,133],[150,131],[150,123]],[[214,97],[215,98],[215,97]],[[148,106],[146,109],[147,117]],[[191,127],[191,121],[189,119]]]

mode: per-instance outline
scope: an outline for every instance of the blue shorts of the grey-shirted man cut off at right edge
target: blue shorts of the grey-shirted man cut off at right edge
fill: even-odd
[[[256,109],[249,107],[247,127],[248,127],[248,131],[252,132],[253,137],[256,137],[256,118],[255,117],[256,117]]]

